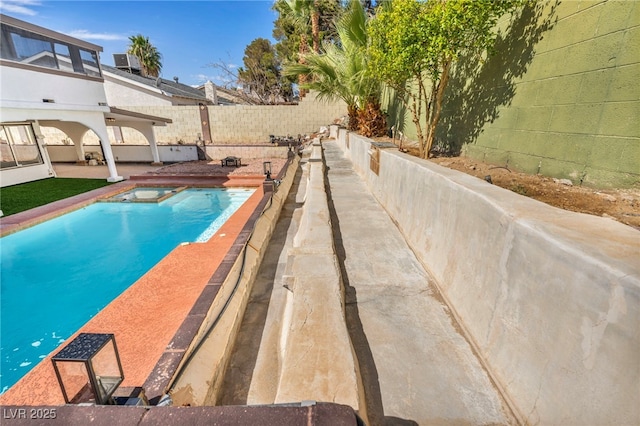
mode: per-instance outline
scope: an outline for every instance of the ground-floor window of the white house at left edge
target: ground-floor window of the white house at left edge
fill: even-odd
[[[42,154],[30,124],[0,126],[0,168],[42,163]]]

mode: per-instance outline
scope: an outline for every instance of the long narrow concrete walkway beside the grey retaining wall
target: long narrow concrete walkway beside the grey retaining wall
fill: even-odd
[[[370,423],[514,423],[395,224],[337,144],[323,147],[347,322]]]

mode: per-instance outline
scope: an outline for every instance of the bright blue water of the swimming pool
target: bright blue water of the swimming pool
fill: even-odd
[[[180,243],[207,241],[253,191],[94,203],[0,238],[0,393]]]

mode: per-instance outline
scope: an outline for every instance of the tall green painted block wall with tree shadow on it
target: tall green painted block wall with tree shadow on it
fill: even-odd
[[[640,1],[542,0],[501,29],[496,54],[457,64],[436,144],[576,184],[640,187]]]

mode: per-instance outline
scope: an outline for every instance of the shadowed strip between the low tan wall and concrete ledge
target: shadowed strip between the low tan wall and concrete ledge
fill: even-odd
[[[302,169],[296,170],[293,185],[284,203],[273,237],[258,271],[258,276],[249,296],[249,302],[242,319],[229,367],[225,371],[222,392],[217,405],[246,405],[253,371],[258,359],[262,335],[265,330],[269,304],[276,283],[276,272],[280,254],[287,241],[287,230],[293,213],[302,207],[296,203]]]

